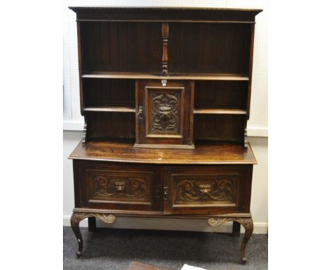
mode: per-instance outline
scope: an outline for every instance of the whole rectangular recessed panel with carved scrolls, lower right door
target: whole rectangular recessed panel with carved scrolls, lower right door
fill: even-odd
[[[175,204],[236,204],[237,175],[174,176]]]

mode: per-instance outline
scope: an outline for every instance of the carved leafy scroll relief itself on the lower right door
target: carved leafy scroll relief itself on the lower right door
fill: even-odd
[[[181,201],[231,201],[235,196],[233,181],[221,180],[181,180],[178,182],[177,199]]]

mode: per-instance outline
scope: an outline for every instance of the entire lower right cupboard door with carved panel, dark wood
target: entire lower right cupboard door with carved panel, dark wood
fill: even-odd
[[[250,172],[240,165],[165,166],[164,213],[249,212],[250,197],[245,197],[243,189],[250,186]]]

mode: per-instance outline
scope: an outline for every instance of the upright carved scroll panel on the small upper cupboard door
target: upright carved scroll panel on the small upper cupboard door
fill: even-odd
[[[152,94],[152,131],[178,131],[178,93]]]

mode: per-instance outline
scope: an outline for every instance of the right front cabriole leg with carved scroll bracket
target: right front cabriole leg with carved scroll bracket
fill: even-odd
[[[243,262],[243,264],[245,264],[247,262],[246,245],[248,243],[248,240],[250,240],[250,237],[252,236],[252,230],[254,228],[252,218],[216,217],[216,218],[209,218],[208,224],[211,225],[212,227],[215,227],[223,223],[226,223],[228,221],[236,221],[241,225],[243,225],[243,228],[245,228],[245,235],[243,237],[243,241],[241,242],[241,261]]]

